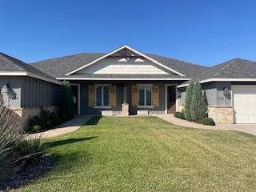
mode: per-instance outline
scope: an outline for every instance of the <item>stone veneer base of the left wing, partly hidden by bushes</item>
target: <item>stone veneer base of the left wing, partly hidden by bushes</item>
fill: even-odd
[[[24,107],[24,108],[10,108],[14,110],[22,118],[22,127],[24,130],[29,129],[30,118],[40,114],[40,107]],[[46,106],[43,107],[44,110],[54,111],[57,110],[56,106]]]

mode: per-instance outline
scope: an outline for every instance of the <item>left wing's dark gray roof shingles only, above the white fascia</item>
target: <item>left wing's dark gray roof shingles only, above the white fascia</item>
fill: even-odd
[[[30,72],[31,74],[39,75],[43,78],[53,79],[49,74],[43,73],[41,70],[38,70],[34,66],[28,65],[17,58],[13,58],[8,54],[3,54],[0,52],[0,71],[11,71],[11,72]]]

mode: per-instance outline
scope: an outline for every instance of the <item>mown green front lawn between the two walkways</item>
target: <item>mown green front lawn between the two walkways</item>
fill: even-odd
[[[256,137],[249,134],[110,117],[46,142],[53,170],[21,191],[256,189]]]

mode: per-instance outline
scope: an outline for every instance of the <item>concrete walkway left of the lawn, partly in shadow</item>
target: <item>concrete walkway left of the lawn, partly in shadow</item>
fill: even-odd
[[[62,123],[62,125],[56,127],[53,130],[46,130],[38,134],[28,134],[27,137],[30,138],[52,138],[61,134],[68,134],[78,130],[82,125],[84,125],[92,116],[90,115],[79,115],[72,118],[68,122]]]

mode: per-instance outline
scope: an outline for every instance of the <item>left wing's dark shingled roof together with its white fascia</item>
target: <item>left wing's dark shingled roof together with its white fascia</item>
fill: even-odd
[[[17,58],[0,52],[0,75],[1,76],[30,76],[47,82],[61,84],[49,74],[45,74],[34,66],[28,65]]]

